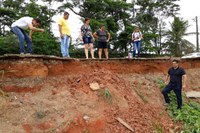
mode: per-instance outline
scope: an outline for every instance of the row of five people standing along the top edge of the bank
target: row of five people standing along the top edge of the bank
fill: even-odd
[[[63,17],[58,20],[58,29],[60,33],[61,39],[61,54],[62,57],[70,58],[69,55],[69,44],[72,41],[70,26],[68,23],[69,13],[64,12]],[[27,54],[32,53],[32,33],[33,32],[44,32],[44,29],[37,28],[41,24],[41,21],[38,18],[32,17],[22,17],[15,21],[11,25],[11,30],[14,34],[17,35],[19,39],[19,47],[20,47],[20,54],[25,54],[24,49],[24,42],[27,43],[28,51]],[[29,35],[25,32],[25,30],[29,29]],[[84,51],[85,57],[88,59],[88,49],[90,48],[91,58],[95,59],[94,57],[94,42],[95,39],[98,42],[98,56],[99,59],[102,58],[102,53],[104,51],[106,59],[109,58],[108,54],[108,42],[111,39],[110,33],[106,30],[105,25],[101,24],[99,29],[96,32],[92,32],[90,27],[90,19],[85,18],[84,24],[81,26],[80,29],[80,37],[79,39],[83,41],[84,44]],[[132,33],[132,44],[133,47],[133,56],[139,57],[140,56],[140,48],[141,48],[141,40],[142,40],[142,33],[138,27]]]

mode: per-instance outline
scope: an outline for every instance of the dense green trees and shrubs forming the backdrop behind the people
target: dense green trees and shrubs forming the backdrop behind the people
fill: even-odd
[[[98,30],[101,24],[107,27],[111,33],[108,46],[110,48],[112,45],[111,58],[127,56],[130,51],[127,46],[131,45],[131,34],[136,25],[140,26],[144,35],[141,51],[145,57],[148,52],[162,56],[162,51],[168,55],[181,56],[182,52],[192,52],[194,46],[183,40],[188,25],[187,21],[176,17],[180,9],[176,1],[179,0],[137,0],[132,3],[124,0],[41,0],[43,4],[39,4],[34,0],[3,0],[0,5],[0,55],[19,53],[18,39],[10,31],[10,26],[23,16],[31,16],[40,18],[41,28],[45,29],[44,33],[33,34],[33,54],[60,56],[59,40],[52,32],[58,29],[52,27],[52,17],[70,9],[81,19],[91,18],[93,32]],[[52,6],[54,4],[61,6],[55,9]],[[163,21],[168,17],[174,18],[169,31]],[[166,39],[162,39],[164,37]],[[78,35],[73,36],[74,40],[77,38]],[[160,43],[159,40],[165,41]],[[79,45],[79,42],[73,43]],[[69,53],[71,57],[84,57],[83,50],[75,49],[74,45],[71,45]]]

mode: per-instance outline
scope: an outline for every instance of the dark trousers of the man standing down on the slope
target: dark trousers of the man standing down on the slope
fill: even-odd
[[[162,94],[165,98],[165,102],[166,103],[170,103],[170,99],[168,96],[168,93],[173,90],[174,93],[176,94],[176,98],[177,98],[177,104],[178,104],[178,109],[181,109],[182,107],[182,85],[181,84],[172,84],[169,83],[165,89],[162,91]]]

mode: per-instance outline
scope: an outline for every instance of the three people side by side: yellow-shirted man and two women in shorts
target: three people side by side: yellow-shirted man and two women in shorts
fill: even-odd
[[[65,12],[63,18],[60,18],[58,21],[60,38],[61,38],[61,53],[63,57],[70,57],[69,56],[69,42],[72,39],[70,34],[69,23],[67,19],[69,18],[69,13]],[[98,55],[99,59],[102,57],[102,50],[105,52],[106,59],[108,59],[108,47],[107,43],[110,40],[110,33],[106,31],[104,25],[101,25],[100,28],[95,32],[92,33],[92,29],[90,27],[90,19],[86,18],[84,21],[83,26],[81,26],[81,34],[79,39],[83,41],[85,48],[85,57],[88,59],[88,49],[90,48],[90,54],[92,59],[94,57],[94,41],[95,38],[98,40]]]

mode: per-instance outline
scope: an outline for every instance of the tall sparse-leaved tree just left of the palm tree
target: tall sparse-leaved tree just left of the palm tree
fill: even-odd
[[[134,11],[135,5],[139,7],[136,10],[134,22],[143,29],[145,36],[148,36],[148,38],[144,36],[143,40],[143,46],[147,50],[154,49],[158,54],[162,51],[164,19],[177,15],[180,7],[175,3],[176,1],[179,0],[137,0],[137,2],[133,0]],[[150,46],[152,44],[154,46]]]

